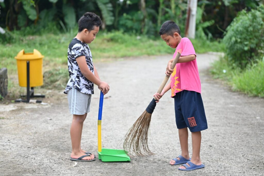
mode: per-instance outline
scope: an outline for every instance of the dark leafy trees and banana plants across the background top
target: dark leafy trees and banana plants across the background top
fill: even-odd
[[[158,36],[161,24],[175,21],[182,36],[188,0],[5,0],[0,3],[0,26],[8,31],[32,28],[31,35],[54,24],[60,31],[72,31],[77,20],[87,11],[103,20],[102,29],[123,30],[149,37]],[[199,0],[196,31],[202,39],[222,38],[233,18],[247,7],[255,9],[260,0]],[[106,27],[107,25],[107,27]],[[36,30],[35,30],[36,29]],[[0,38],[8,38],[0,35]]]

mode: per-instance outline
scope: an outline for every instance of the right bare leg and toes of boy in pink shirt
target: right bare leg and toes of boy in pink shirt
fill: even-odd
[[[192,158],[191,162],[195,165],[201,165],[202,161],[200,159],[200,148],[201,148],[201,131],[192,132]],[[189,164],[186,163],[188,166]],[[184,166],[179,167],[181,169],[185,169]]]

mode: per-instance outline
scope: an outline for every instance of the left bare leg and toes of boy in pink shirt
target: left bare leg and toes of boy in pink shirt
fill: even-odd
[[[179,131],[179,139],[180,139],[181,150],[182,150],[181,155],[186,159],[190,159],[189,150],[188,150],[188,129],[182,128],[182,129],[178,129],[178,131]],[[180,158],[177,158],[177,159],[180,160]],[[175,161],[171,160],[169,164],[174,165]]]

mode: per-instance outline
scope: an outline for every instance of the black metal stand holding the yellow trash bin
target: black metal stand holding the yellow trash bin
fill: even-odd
[[[40,98],[45,98],[45,95],[34,95],[34,87],[31,87],[30,90],[30,80],[29,80],[29,61],[27,61],[27,94],[26,95],[21,95],[21,97],[27,97],[26,100],[23,100],[21,98],[16,99],[15,102],[24,102],[24,103],[41,103],[41,100],[30,100],[32,97],[40,97]]]

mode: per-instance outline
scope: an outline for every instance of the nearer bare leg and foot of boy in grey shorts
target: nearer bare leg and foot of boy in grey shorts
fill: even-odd
[[[77,159],[85,153],[81,152],[80,144],[81,144],[81,129],[82,124],[85,119],[85,115],[73,115],[72,125],[70,127],[70,138],[72,140],[72,154],[71,158]],[[94,159],[94,156],[86,156],[82,158],[82,160],[91,160]]]

